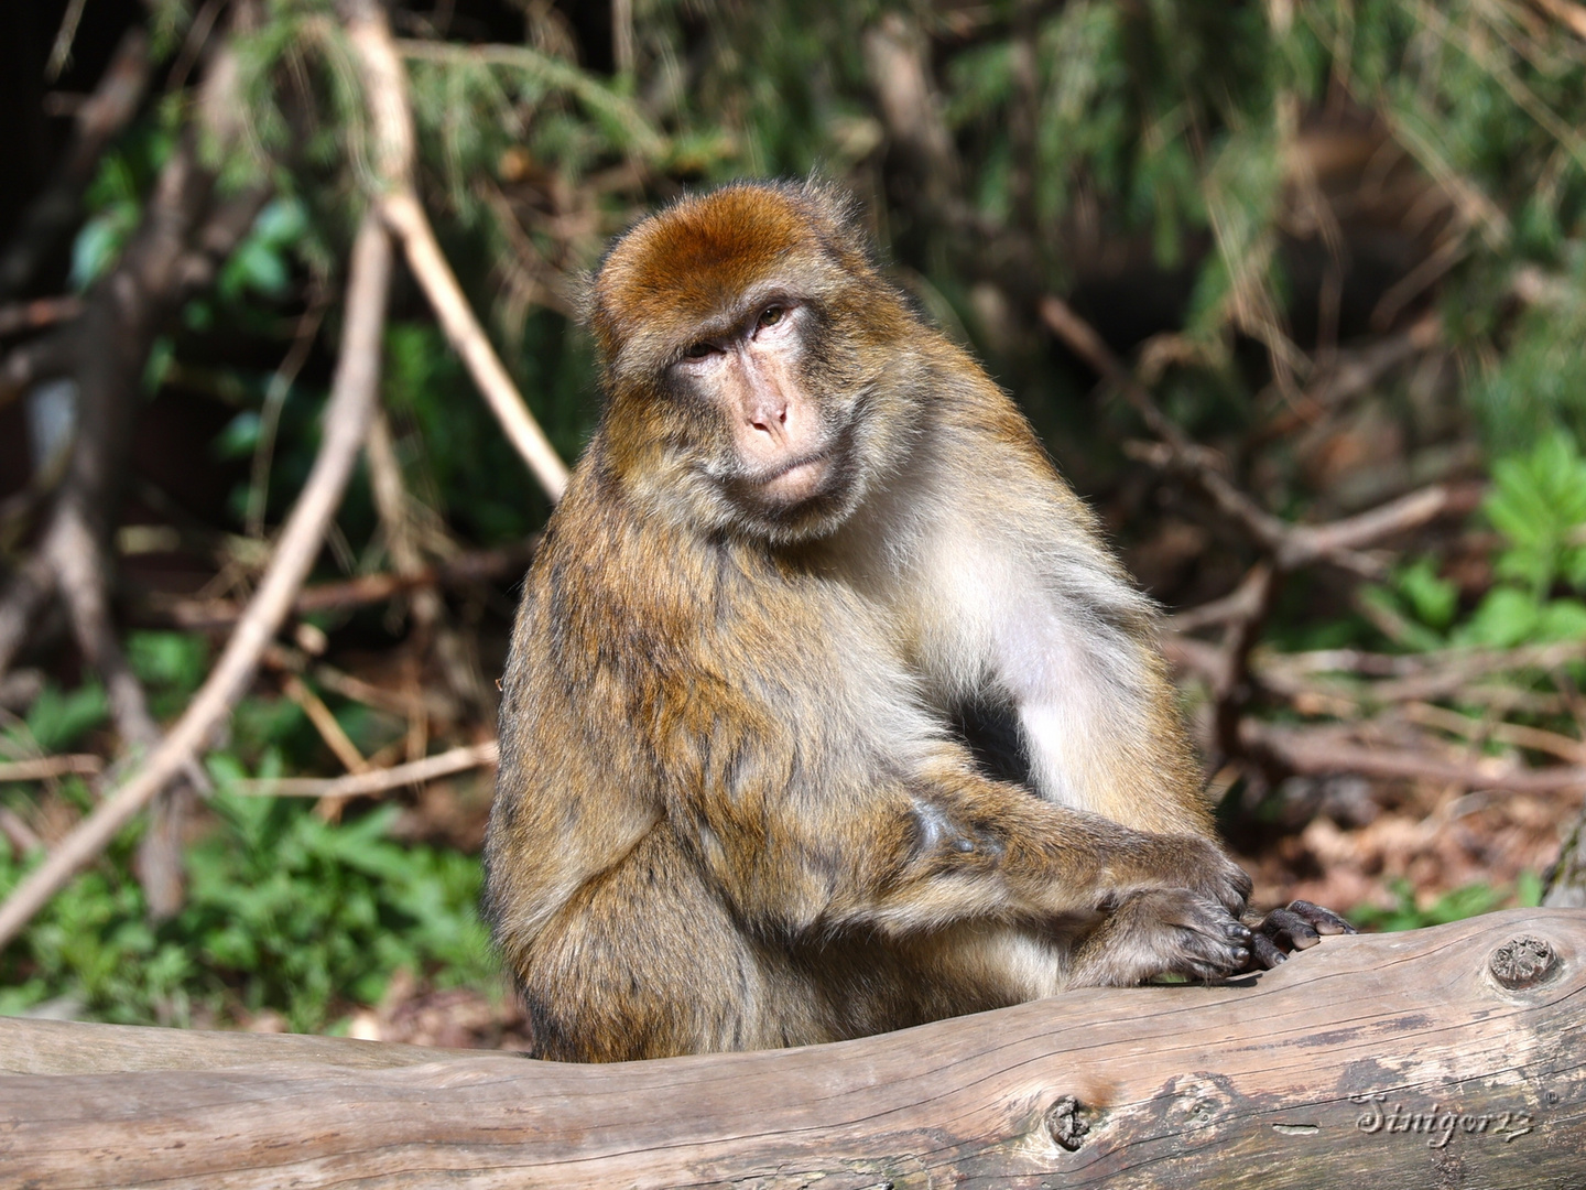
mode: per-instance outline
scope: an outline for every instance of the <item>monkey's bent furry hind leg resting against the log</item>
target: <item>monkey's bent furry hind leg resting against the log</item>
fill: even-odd
[[[826,1039],[783,1036],[799,1033],[807,1001],[772,985],[665,823],[509,957],[536,1057],[626,1061]]]

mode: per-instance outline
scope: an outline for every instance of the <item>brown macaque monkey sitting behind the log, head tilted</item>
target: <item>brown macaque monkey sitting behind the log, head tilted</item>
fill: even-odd
[[[1151,603],[842,200],[684,198],[611,249],[588,322],[607,403],[525,582],[485,843],[539,1057],[1281,958]],[[1294,946],[1347,928],[1280,912]]]

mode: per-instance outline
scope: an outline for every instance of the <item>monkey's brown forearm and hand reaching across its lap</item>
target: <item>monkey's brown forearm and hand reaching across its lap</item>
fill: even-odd
[[[753,839],[760,877],[725,881],[744,898],[739,911],[783,928],[909,935],[977,919],[1088,923],[1140,893],[1174,890],[1172,916],[1194,938],[1180,938],[1177,923],[1172,939],[1158,938],[1166,962],[1153,973],[1178,969],[1186,947],[1221,971],[1247,958],[1250,931],[1237,916],[1250,879],[1205,838],[1151,835],[1044,801],[983,777],[947,746],[906,781],[877,779],[861,803],[823,801],[820,820],[801,823],[810,839]],[[725,843],[734,827],[722,822],[715,833]],[[833,836],[845,839],[841,866],[829,862]]]

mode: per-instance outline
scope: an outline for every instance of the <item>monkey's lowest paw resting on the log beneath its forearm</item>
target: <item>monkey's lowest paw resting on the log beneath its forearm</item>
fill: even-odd
[[[1074,949],[1069,987],[1132,987],[1155,976],[1224,979],[1248,969],[1253,936],[1190,889],[1126,895]]]

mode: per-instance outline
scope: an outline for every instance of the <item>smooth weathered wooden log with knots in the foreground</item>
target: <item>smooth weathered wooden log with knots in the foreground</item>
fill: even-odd
[[[611,1066],[0,1020],[27,1187],[1586,1187],[1586,911]]]

